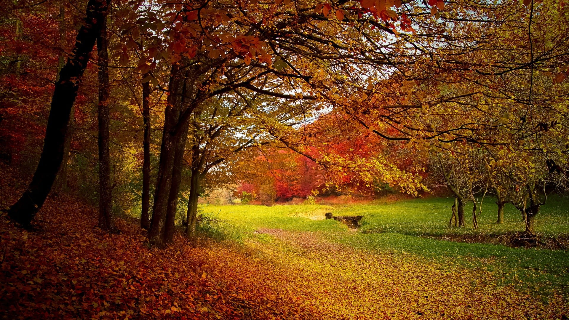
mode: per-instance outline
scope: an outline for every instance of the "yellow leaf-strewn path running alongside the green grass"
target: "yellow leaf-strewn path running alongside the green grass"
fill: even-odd
[[[554,294],[533,297],[498,286],[481,269],[379,255],[330,243],[319,233],[261,229],[278,239],[260,248],[321,319],[563,319],[569,305]]]

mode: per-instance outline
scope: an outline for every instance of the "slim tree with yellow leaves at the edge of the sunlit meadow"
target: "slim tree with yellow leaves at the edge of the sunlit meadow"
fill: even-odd
[[[271,136],[263,133],[264,126],[251,114],[271,114],[271,119],[286,121],[300,112],[296,108],[283,108],[280,105],[279,101],[266,99],[258,93],[246,96],[236,91],[210,99],[208,104],[201,104],[199,111],[193,113],[188,157],[191,167],[186,218],[188,239],[193,240],[196,236],[197,202],[203,188],[229,184],[228,178],[234,175],[228,174],[228,171],[239,170],[239,163],[235,163],[237,157],[241,156],[237,162],[242,163],[242,155],[249,147],[267,145],[273,141]],[[218,169],[220,166],[224,169]]]

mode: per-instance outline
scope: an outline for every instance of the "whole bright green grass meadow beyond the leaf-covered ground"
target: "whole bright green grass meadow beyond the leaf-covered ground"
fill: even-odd
[[[566,203],[566,204],[564,204]],[[255,231],[280,228],[288,231],[310,231],[324,235],[329,241],[349,245],[364,251],[389,253],[403,259],[442,262],[452,268],[484,268],[494,272],[505,283],[527,286],[532,292],[556,288],[569,294],[569,252],[549,249],[511,248],[504,245],[463,243],[428,239],[421,235],[449,233],[504,233],[523,231],[521,217],[515,208],[505,211],[505,223],[496,224],[496,205],[486,199],[479,229],[448,227],[451,198],[398,200],[385,203],[353,206],[212,206],[201,211],[224,220],[220,227],[234,239],[254,237],[272,241],[271,237]],[[537,216],[536,231],[547,236],[569,235],[569,200],[553,199]],[[471,213],[467,208],[467,218]],[[314,220],[314,216],[333,212],[334,215],[362,215],[359,231],[350,231],[333,220]],[[469,224],[470,223],[470,224]]]

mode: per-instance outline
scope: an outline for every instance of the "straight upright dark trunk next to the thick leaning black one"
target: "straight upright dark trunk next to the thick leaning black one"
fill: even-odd
[[[113,202],[110,185],[109,154],[109,56],[107,51],[106,17],[102,22],[101,35],[97,38],[99,64],[99,227],[113,229],[111,210]]]

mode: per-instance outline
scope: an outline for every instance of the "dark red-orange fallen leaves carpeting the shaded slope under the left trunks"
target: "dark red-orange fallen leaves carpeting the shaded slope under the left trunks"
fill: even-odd
[[[2,201],[19,194],[9,188]],[[109,235],[95,227],[96,209],[70,196],[48,199],[37,221],[42,230],[28,232],[0,218],[3,317],[302,319],[312,312],[294,291],[267,281],[277,270],[232,245],[191,247],[180,238],[150,249],[137,223],[117,219],[122,233]]]

